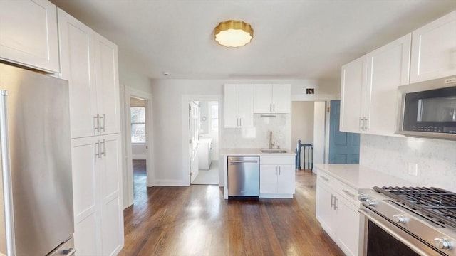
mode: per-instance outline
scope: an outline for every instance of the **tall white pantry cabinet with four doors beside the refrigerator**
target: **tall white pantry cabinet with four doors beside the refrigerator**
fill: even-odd
[[[116,255],[124,243],[118,49],[61,9],[58,36],[70,85],[75,247]]]

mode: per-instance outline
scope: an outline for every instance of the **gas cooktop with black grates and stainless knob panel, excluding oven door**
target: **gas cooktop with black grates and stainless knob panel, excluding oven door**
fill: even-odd
[[[384,186],[361,190],[358,198],[365,213],[388,220],[385,229],[394,226],[412,236],[406,243],[418,254],[456,256],[456,193]]]

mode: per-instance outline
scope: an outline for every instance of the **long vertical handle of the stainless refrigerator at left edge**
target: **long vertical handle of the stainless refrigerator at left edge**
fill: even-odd
[[[0,140],[1,140],[1,169],[3,178],[6,255],[16,255],[14,241],[13,190],[9,158],[8,120],[6,119],[6,90],[0,91]]]

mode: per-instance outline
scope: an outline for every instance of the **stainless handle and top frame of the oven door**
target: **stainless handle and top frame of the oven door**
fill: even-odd
[[[368,230],[368,221],[367,220],[371,220],[373,223],[375,223],[375,225],[378,225],[378,227],[380,227],[381,229],[385,230],[385,232],[392,235],[393,238],[399,240],[400,242],[403,242],[403,244],[407,245],[408,247],[410,247],[410,249],[414,250],[418,254],[420,254],[420,255],[429,254],[429,252],[425,252],[420,247],[413,245],[413,243],[411,243],[407,239],[403,238],[403,236],[410,236],[410,238],[414,239],[414,240],[416,240],[416,238],[413,238],[412,235],[409,235],[408,233],[406,233],[404,230],[398,228],[393,223],[389,223],[388,220],[386,220],[385,218],[378,215],[378,213],[373,212],[371,209],[367,208],[363,204],[361,204],[361,207],[359,208],[358,213],[361,213],[361,220],[364,220],[364,225],[365,225],[364,238],[365,238],[365,240],[366,240],[366,235],[367,235],[367,230]],[[388,227],[388,225],[385,225],[385,223],[390,226]],[[391,228],[391,227],[393,227],[393,228]],[[366,244],[366,242],[365,242],[365,244]],[[367,253],[366,249],[367,249],[367,246],[365,248],[363,248],[364,255],[366,255],[366,253]]]

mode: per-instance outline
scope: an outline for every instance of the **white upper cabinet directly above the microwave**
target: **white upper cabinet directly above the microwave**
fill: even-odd
[[[410,82],[456,75],[456,11],[412,33]]]

